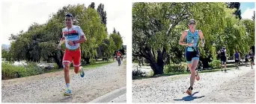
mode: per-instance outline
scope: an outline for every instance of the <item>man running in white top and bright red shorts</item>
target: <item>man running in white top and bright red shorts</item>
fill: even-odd
[[[64,96],[72,95],[70,90],[70,63],[73,61],[74,71],[80,74],[81,77],[85,76],[84,69],[80,66],[81,50],[80,43],[85,42],[87,39],[85,33],[82,32],[81,27],[73,25],[73,16],[67,13],[65,17],[66,26],[62,29],[63,36],[61,42],[58,44],[58,49],[61,49],[61,44],[65,42],[66,50],[63,57],[64,78],[66,82],[66,91]]]

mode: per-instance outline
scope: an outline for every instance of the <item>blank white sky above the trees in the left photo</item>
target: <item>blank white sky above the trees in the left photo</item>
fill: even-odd
[[[112,2],[95,2],[95,8],[97,9],[100,3],[104,4],[104,10],[107,14],[107,31],[112,33],[114,30],[118,30],[121,33],[123,39],[123,45],[127,45],[127,36],[132,36],[131,32],[127,27],[131,24],[131,4],[126,2],[119,2],[113,6]],[[68,4],[85,4],[88,7],[91,2],[86,1],[72,1],[67,2],[10,2],[4,1],[1,5],[2,13],[2,33],[1,36],[2,44],[10,45],[8,38],[10,34],[19,33],[20,30],[27,31],[28,27],[34,22],[39,24],[46,23],[49,20],[49,16],[52,13],[57,13],[61,7],[67,6]]]

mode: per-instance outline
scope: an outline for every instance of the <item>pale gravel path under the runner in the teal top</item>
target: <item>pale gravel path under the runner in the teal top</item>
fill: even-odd
[[[193,95],[189,74],[132,81],[132,103],[255,103],[255,69],[202,73],[195,81]]]

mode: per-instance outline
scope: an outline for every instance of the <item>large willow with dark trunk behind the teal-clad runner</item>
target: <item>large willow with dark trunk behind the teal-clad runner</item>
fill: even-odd
[[[196,28],[202,30],[205,47],[199,45],[201,60],[207,66],[209,57],[216,59],[216,52],[226,45],[228,53],[235,48],[247,51],[254,41],[234,9],[225,3],[134,3],[132,5],[132,56],[147,59],[154,75],[162,74],[168,64],[185,62],[184,46],[178,45],[183,30],[187,30],[189,19],[197,21]],[[251,32],[252,33],[252,32]],[[241,43],[242,42],[242,43]],[[252,42],[254,44],[254,42]]]

